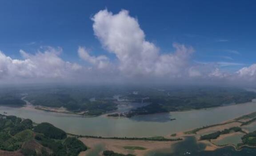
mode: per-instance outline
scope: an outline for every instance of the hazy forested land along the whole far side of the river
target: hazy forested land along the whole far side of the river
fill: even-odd
[[[0,105],[24,107],[30,103],[38,110],[95,117],[127,117],[199,110],[251,102],[256,92],[228,87],[156,88],[24,88],[0,91]],[[148,103],[122,112],[122,103]]]

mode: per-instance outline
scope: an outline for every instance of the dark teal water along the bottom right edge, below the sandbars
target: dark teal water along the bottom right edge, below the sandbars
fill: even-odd
[[[146,156],[256,156],[256,148],[244,148],[236,151],[228,146],[215,151],[204,151],[205,145],[196,142],[195,137],[187,137],[184,141],[176,143],[170,149],[151,151]]]

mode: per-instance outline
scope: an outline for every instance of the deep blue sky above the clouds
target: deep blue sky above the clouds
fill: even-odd
[[[195,49],[192,61],[236,71],[255,63],[255,5],[253,0],[1,0],[0,50],[20,59],[20,49],[35,53],[40,46],[60,46],[62,59],[84,64],[77,54],[84,46],[114,60],[94,35],[91,18],[105,8],[113,14],[125,9],[160,53],[174,51],[172,43],[178,42]]]

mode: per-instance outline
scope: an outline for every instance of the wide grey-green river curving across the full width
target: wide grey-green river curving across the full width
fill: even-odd
[[[206,110],[192,110],[136,116],[133,118],[81,117],[34,110],[0,107],[0,114],[30,118],[34,122],[49,122],[68,133],[103,137],[166,136],[197,127],[217,124],[256,111],[256,103],[245,103]],[[170,118],[176,118],[171,121]]]

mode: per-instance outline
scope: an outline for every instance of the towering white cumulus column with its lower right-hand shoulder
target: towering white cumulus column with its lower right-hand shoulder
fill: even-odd
[[[171,76],[187,73],[191,47],[174,43],[176,52],[160,54],[159,48],[145,39],[138,21],[122,10],[113,15],[107,10],[93,16],[93,30],[110,53],[119,60],[118,68],[129,76]]]

